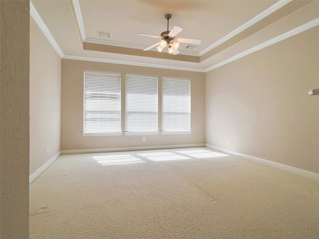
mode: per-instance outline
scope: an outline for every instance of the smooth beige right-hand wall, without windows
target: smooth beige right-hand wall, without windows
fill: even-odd
[[[319,173],[315,88],[319,27],[206,73],[206,143]]]

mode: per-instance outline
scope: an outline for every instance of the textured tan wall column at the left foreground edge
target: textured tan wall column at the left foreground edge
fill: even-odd
[[[0,238],[29,238],[29,1],[0,1]]]

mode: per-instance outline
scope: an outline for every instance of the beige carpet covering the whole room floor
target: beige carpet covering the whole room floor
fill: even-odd
[[[62,155],[30,185],[30,239],[179,238],[319,239],[319,183],[190,148]]]

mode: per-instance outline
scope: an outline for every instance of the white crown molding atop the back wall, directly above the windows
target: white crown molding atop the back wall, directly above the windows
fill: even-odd
[[[111,63],[111,64],[129,65],[129,66],[153,67],[153,68],[161,68],[161,69],[169,69],[169,70],[177,70],[177,71],[205,72],[205,70],[203,69],[196,69],[196,68],[164,66],[164,65],[155,65],[155,64],[129,62],[129,61],[116,61],[116,60],[107,60],[107,59],[91,58],[91,57],[83,57],[83,56],[64,55],[62,58],[68,59],[68,60],[94,61],[94,62],[103,62],[103,63]]]

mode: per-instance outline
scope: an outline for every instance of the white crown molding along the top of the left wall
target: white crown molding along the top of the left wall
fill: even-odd
[[[33,20],[36,22],[36,24],[39,26],[43,34],[46,36],[48,41],[51,43],[55,51],[59,54],[59,56],[63,57],[63,52],[61,48],[59,47],[58,43],[56,43],[54,37],[52,36],[51,32],[49,31],[49,28],[45,25],[44,21],[42,20],[40,14],[35,9],[34,5],[30,1],[30,15],[33,18]]]

